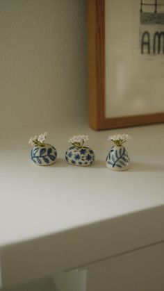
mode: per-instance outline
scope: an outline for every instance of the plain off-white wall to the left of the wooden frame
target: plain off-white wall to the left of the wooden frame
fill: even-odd
[[[88,115],[85,0],[0,0],[0,126]]]

